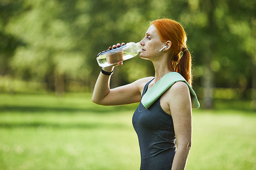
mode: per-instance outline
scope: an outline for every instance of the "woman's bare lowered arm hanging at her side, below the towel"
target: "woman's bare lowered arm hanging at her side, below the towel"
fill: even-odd
[[[192,141],[191,100],[187,85],[175,83],[170,88],[170,113],[173,117],[177,151],[172,170],[185,169]]]

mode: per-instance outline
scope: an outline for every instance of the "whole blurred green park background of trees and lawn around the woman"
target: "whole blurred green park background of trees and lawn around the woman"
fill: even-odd
[[[187,169],[256,169],[253,0],[1,0],[0,169],[139,169],[137,104],[98,106],[96,57],[158,18],[184,27],[201,108]],[[154,76],[138,56],[111,87]]]

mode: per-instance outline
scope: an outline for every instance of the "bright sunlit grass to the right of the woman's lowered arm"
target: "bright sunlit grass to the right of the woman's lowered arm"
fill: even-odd
[[[187,169],[256,168],[255,114],[200,111],[193,120],[193,147]]]

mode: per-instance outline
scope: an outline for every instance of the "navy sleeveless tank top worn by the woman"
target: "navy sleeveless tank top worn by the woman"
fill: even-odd
[[[142,96],[150,82],[146,83]],[[161,108],[160,98],[148,109],[140,103],[133,115],[140,146],[140,170],[172,168],[176,152],[173,118]]]

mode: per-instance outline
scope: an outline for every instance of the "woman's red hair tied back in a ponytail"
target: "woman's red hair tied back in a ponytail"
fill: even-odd
[[[191,85],[193,81],[191,55],[188,50],[185,50],[187,48],[187,36],[183,27],[175,20],[166,18],[154,20],[151,25],[157,28],[158,35],[162,41],[172,41],[170,55],[167,59],[168,69],[179,72]],[[182,51],[184,53],[181,56]]]

